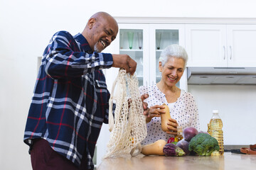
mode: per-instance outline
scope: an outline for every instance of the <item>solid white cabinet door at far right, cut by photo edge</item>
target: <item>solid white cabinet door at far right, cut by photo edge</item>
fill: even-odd
[[[228,67],[256,66],[256,25],[228,25]]]

